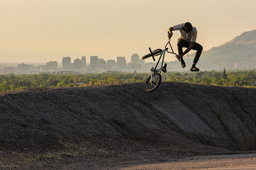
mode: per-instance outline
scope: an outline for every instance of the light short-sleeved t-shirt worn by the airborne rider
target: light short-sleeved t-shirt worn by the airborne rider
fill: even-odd
[[[184,33],[184,31],[182,30],[182,24],[179,24],[179,25],[176,25],[176,26],[173,26],[173,30],[180,30],[180,39],[183,39],[185,41],[196,41],[196,36],[197,36],[197,30],[196,30],[196,27],[192,27],[192,31],[190,31],[189,33]]]

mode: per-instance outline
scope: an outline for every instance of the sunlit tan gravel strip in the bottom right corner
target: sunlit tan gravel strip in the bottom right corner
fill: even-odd
[[[256,154],[237,154],[237,155],[206,155],[191,156],[186,159],[166,160],[163,163],[153,163],[131,167],[122,167],[124,170],[187,170],[187,169],[256,169]]]

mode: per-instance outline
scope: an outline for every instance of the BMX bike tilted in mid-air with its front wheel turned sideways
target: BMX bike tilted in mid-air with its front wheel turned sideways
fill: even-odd
[[[168,53],[171,53],[171,54],[175,54],[175,53],[173,52],[173,49],[172,49],[170,40],[171,40],[171,39],[169,39],[169,41],[168,41],[167,44],[165,45],[165,48],[164,48],[164,49],[158,48],[158,49],[156,49],[156,50],[154,50],[154,51],[151,51],[151,48],[149,47],[150,54],[144,55],[144,56],[142,57],[143,60],[146,59],[146,58],[148,58],[148,57],[152,57],[153,60],[156,61],[156,60],[155,60],[155,56],[160,55],[160,57],[159,57],[159,59],[158,59],[158,61],[157,61],[157,63],[156,63],[156,66],[155,66],[155,67],[152,67],[152,68],[150,69],[151,75],[148,77],[148,79],[147,79],[147,81],[146,81],[146,83],[145,83],[145,86],[144,86],[146,92],[154,92],[154,91],[158,88],[158,86],[160,85],[160,83],[161,83],[161,81],[162,81],[161,72],[163,71],[164,73],[166,73],[166,66],[167,66],[167,64],[165,63],[164,66],[163,66],[165,51],[168,52]],[[169,51],[168,51],[168,48],[166,48],[166,46],[167,46],[168,44],[170,44],[170,47],[171,47],[171,49],[172,49],[172,52],[169,52]],[[160,54],[160,53],[161,53],[161,54]],[[175,55],[177,56],[177,54],[175,54]],[[156,69],[157,66],[158,66],[158,63],[159,63],[159,61],[160,61],[160,59],[161,59],[162,56],[163,56],[163,59],[162,59],[161,68],[160,68],[160,69]],[[180,61],[180,59],[179,59],[179,61]]]

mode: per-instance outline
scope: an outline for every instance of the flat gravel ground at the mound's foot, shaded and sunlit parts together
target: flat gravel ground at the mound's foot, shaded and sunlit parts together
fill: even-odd
[[[41,165],[12,166],[10,169],[73,169],[73,170],[203,170],[232,169],[256,170],[256,153],[231,155],[183,156],[177,159],[164,154],[138,153],[117,155],[91,155],[63,159],[61,162],[48,160]],[[0,168],[1,169],[1,168]],[[6,168],[6,170],[9,168]],[[5,170],[5,169],[1,169]]]

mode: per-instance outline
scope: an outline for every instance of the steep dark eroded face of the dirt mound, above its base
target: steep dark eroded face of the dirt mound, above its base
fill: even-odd
[[[61,138],[128,137],[255,149],[256,89],[165,82],[27,88],[0,95],[0,144],[62,145]]]

